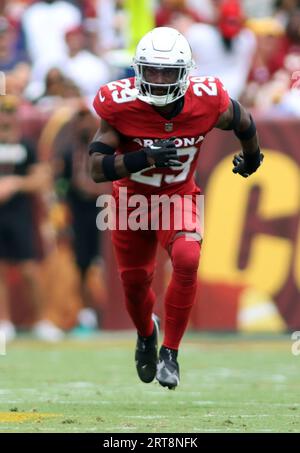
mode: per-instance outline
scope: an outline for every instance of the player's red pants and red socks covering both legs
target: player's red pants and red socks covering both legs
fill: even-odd
[[[128,313],[140,335],[153,332],[151,288],[157,245],[169,253],[173,272],[165,296],[163,345],[178,349],[195,299],[200,242],[181,231],[116,230],[112,232]]]

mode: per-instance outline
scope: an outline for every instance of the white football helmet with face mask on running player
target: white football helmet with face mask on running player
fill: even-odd
[[[156,106],[176,101],[188,89],[193,67],[185,37],[174,28],[154,28],[140,40],[133,59],[137,97]]]

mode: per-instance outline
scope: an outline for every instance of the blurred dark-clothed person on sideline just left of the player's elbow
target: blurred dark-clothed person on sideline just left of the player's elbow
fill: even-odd
[[[96,128],[96,118],[82,105],[73,116],[67,130],[63,131],[66,144],[62,147],[63,171],[60,175],[67,182],[66,201],[71,212],[73,247],[80,271],[80,292],[85,307],[79,313],[78,319],[79,323],[84,324],[84,319],[88,316],[90,327],[96,327],[99,321],[96,314],[96,312],[99,314],[99,310],[95,307],[87,284],[87,273],[96,262],[99,266],[101,256],[101,235],[96,227],[99,212],[96,199],[100,193],[110,190],[110,184],[103,187],[95,184],[87,169],[87,146]],[[93,310],[95,308],[96,311]]]

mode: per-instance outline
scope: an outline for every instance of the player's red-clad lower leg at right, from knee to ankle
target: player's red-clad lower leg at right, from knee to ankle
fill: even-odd
[[[175,239],[171,259],[173,274],[165,297],[165,333],[163,345],[178,349],[185,332],[197,289],[200,243]]]

